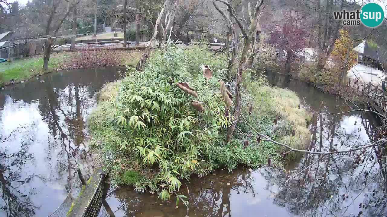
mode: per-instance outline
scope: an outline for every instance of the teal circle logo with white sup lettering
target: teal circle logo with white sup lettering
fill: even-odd
[[[368,3],[361,8],[360,20],[367,27],[377,27],[383,22],[384,11],[377,3]]]

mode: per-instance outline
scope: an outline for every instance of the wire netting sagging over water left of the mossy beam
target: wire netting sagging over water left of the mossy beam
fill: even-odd
[[[80,191],[82,190],[82,181],[80,181],[78,176],[75,177],[74,183],[72,184],[63,203],[51,215],[48,215],[48,217],[66,217],[72,202],[78,197]]]

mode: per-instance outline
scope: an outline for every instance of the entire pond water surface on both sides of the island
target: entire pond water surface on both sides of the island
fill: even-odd
[[[266,76],[271,85],[294,90],[304,106],[318,109],[324,102],[324,111],[348,109],[344,100],[307,83]],[[0,216],[45,217],[66,197],[77,166],[90,174],[86,117],[104,83],[118,77],[111,68],[62,71],[0,92]],[[375,125],[368,114],[319,118],[313,149],[320,138],[325,151],[367,143],[372,135],[366,129]],[[161,202],[155,194],[138,194],[130,187],[109,188],[106,201],[116,217],[385,216],[381,164],[353,161],[348,155],[307,155],[288,161],[285,170],[265,166],[192,176],[180,190],[189,196],[188,209],[183,203],[176,208],[174,198]]]

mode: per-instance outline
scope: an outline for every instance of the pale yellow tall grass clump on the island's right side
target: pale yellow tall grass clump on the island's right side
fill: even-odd
[[[265,117],[271,123],[269,124],[271,132],[266,129],[266,133],[272,134],[277,141],[292,148],[305,149],[310,142],[308,125],[311,117],[300,106],[300,98],[296,93],[283,88],[257,85],[256,82],[250,82],[248,90],[254,107],[258,109],[258,112],[265,114]],[[273,122],[276,122],[276,125]],[[279,153],[286,153],[287,151],[285,147],[279,147]],[[296,159],[302,156],[302,153],[293,151],[283,157]]]

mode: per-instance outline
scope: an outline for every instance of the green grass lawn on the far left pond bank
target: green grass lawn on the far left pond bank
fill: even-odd
[[[58,67],[63,61],[70,57],[67,53],[51,54],[48,62],[49,71]],[[17,59],[10,63],[0,63],[0,85],[11,79],[15,81],[25,80],[31,76],[42,73],[43,56],[34,56],[32,58]]]

